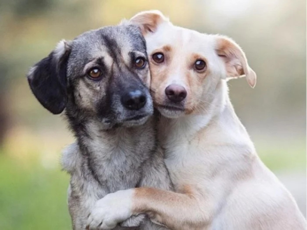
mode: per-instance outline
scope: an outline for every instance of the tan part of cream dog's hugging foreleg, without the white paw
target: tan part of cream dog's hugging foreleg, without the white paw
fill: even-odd
[[[150,219],[171,229],[202,229],[212,217],[210,205],[202,205],[201,199],[186,188],[175,193],[155,188],[137,188],[131,206],[132,213],[146,213]]]

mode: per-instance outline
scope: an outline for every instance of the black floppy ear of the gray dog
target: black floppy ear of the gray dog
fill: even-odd
[[[60,41],[48,57],[35,64],[27,78],[40,104],[53,114],[61,113],[67,103],[67,61],[70,44]]]

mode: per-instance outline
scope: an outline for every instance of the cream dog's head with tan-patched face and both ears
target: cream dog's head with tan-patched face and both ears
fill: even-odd
[[[159,11],[141,12],[130,20],[145,36],[152,97],[163,116],[206,113],[223,80],[245,75],[254,87],[256,75],[231,39],[173,26]]]

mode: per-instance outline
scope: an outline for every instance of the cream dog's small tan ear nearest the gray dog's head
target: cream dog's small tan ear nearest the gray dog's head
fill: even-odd
[[[169,22],[169,19],[159,10],[149,10],[137,13],[135,16],[131,17],[130,21],[133,24],[139,25],[143,35],[145,35],[148,32],[155,32],[160,24]]]

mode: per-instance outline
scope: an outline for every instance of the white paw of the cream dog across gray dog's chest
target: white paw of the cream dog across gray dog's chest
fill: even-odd
[[[131,215],[133,190],[122,190],[107,194],[98,200],[86,222],[86,229],[108,230]]]

